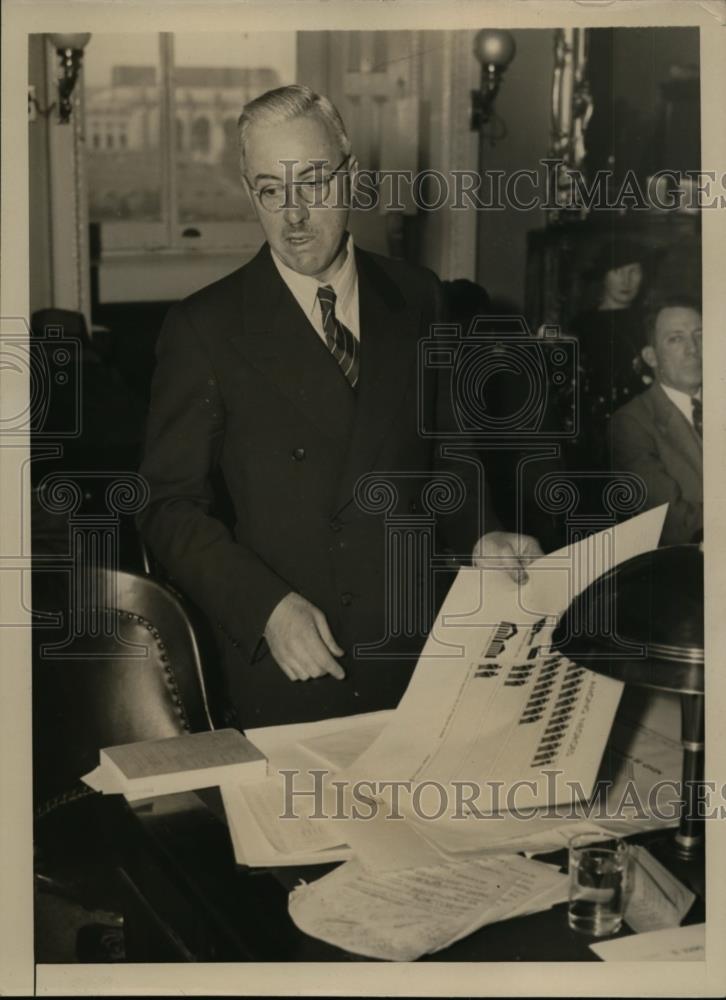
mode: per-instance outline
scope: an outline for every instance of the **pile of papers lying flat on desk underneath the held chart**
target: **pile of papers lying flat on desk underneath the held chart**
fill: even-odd
[[[667,704],[664,707],[669,709]],[[528,819],[507,815],[471,818],[458,820],[458,826],[452,823],[444,829],[439,820],[420,820],[402,814],[401,818],[393,819],[390,803],[380,801],[374,815],[356,820],[342,818],[349,814],[349,807],[340,810],[339,803],[326,795],[321,778],[319,801],[327,818],[311,819],[315,797],[298,794],[315,786],[309,773],[313,758],[308,747],[325,744],[332,754],[333,747],[346,746],[349,752],[360,753],[391,714],[377,712],[351,719],[251,730],[249,735],[269,758],[273,774],[264,783],[222,788],[238,863],[313,864],[349,857],[352,851],[369,869],[392,871],[504,852],[546,853],[566,847],[575,833],[589,832],[593,838],[603,832],[626,836],[678,822],[675,810],[665,810],[664,818],[659,818],[643,814],[637,805],[621,810],[618,818],[605,818],[607,810],[614,811],[628,788],[631,802],[635,793],[637,801],[647,806],[656,782],[670,781],[680,775],[682,747],[660,731],[667,730],[667,726],[657,728],[659,717],[649,717],[648,726],[624,719],[613,727],[607,748],[609,770],[603,772],[612,781],[604,800],[607,809],[599,801],[590,805],[575,802],[572,809],[539,809]],[[666,711],[663,720],[669,719]],[[324,763],[321,756],[314,761],[313,769],[319,773],[324,770]],[[334,769],[332,762],[328,765]],[[287,792],[280,769],[287,774]],[[295,792],[292,798],[291,788]],[[292,812],[295,819],[290,818]],[[325,853],[316,857],[316,851]]]

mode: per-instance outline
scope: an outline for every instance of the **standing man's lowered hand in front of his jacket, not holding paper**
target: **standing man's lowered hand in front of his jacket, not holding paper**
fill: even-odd
[[[291,681],[332,674],[339,681],[345,671],[333,659],[343,650],[332,636],[325,615],[300,594],[287,594],[265,627],[270,652]],[[331,655],[332,654],[332,655]]]

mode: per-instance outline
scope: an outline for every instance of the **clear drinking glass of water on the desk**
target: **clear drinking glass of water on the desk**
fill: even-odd
[[[570,892],[567,919],[592,937],[616,934],[629,890],[630,855],[622,840],[577,834],[569,842]]]

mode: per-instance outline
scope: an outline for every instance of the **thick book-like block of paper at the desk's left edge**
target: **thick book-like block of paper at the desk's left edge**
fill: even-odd
[[[237,729],[217,729],[106,747],[83,781],[98,792],[120,792],[133,800],[259,781],[266,774],[267,760],[254,744]]]

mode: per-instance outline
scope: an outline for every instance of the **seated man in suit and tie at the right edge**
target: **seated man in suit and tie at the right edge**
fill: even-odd
[[[657,304],[646,319],[643,360],[655,384],[613,415],[613,469],[645,481],[648,507],[668,503],[662,545],[703,532],[701,311],[685,297]]]

